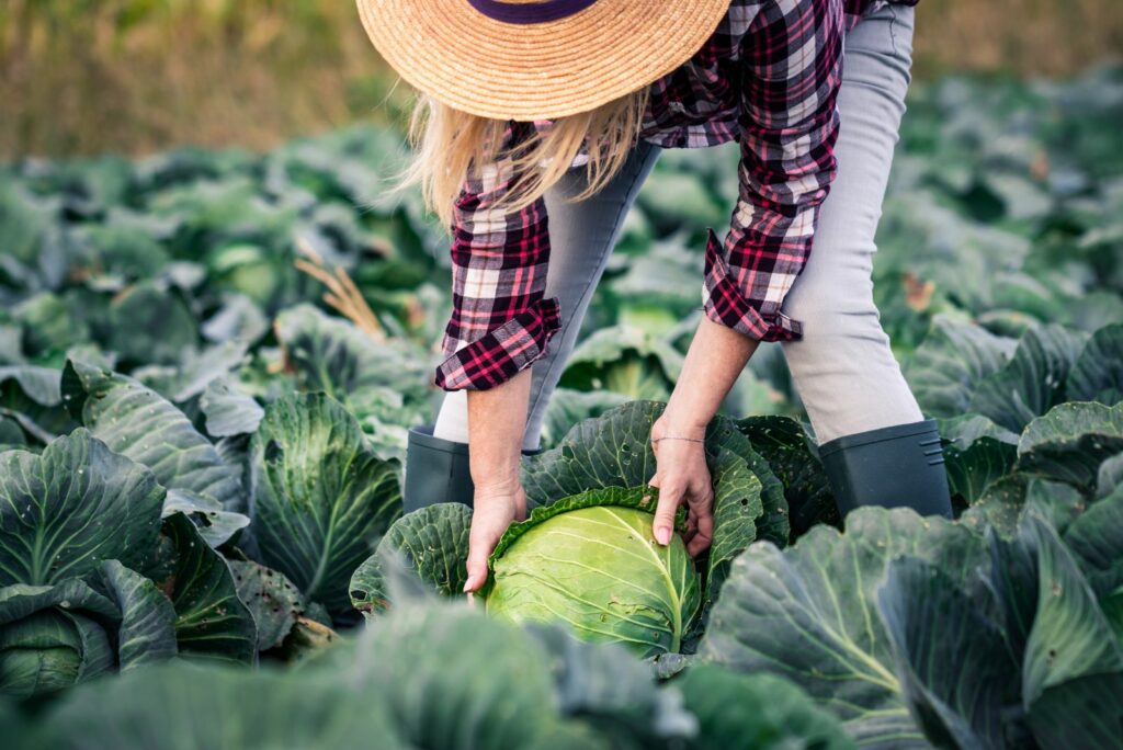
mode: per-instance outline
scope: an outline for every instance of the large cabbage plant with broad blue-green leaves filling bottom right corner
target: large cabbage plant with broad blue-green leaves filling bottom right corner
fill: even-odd
[[[791,679],[861,746],[1117,747],[1121,551],[1123,487],[1007,539],[860,509],[740,556],[699,655]]]

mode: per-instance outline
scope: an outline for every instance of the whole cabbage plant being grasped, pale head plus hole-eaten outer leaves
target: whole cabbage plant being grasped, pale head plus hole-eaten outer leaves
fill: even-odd
[[[641,656],[675,653],[696,638],[732,559],[758,534],[786,541],[784,487],[737,426],[719,419],[706,436],[714,486],[709,554],[692,559],[678,534],[667,547],[655,542],[648,438],[661,411],[655,402],[611,409],[524,461],[531,514],[506,531],[491,557],[489,612],[564,624],[578,638],[619,642]],[[679,530],[682,521],[681,513]],[[364,613],[390,604],[382,582],[387,554],[401,554],[438,593],[459,595],[471,523],[471,510],[455,504],[399,519],[351,577],[351,604]]]

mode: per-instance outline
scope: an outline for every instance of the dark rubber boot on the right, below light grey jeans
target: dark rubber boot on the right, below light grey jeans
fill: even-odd
[[[839,512],[911,507],[951,518],[943,448],[934,420],[848,435],[819,447]]]

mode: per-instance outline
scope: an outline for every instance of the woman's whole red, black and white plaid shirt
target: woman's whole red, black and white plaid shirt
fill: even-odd
[[[891,0],[732,0],[686,64],[651,85],[640,137],[664,148],[740,141],[740,194],[724,241],[711,229],[703,310],[765,341],[800,338],[780,305],[811,253],[834,177],[842,38]],[[915,4],[916,0],[895,0]],[[544,122],[510,122],[504,150]],[[576,164],[576,163],[575,163]],[[519,175],[500,158],[473,170],[453,222],[453,315],[436,383],[494,387],[546,354],[560,326],[545,299],[550,238],[545,201],[491,207]]]

